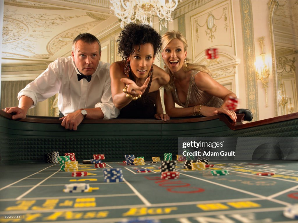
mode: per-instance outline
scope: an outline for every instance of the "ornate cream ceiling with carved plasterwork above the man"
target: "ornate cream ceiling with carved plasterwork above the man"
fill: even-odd
[[[42,59],[52,62],[54,57],[71,51],[72,40],[78,34],[104,31],[107,23],[103,27],[98,25],[108,21],[113,15],[90,12],[91,1],[80,1],[81,5],[80,2],[75,2],[77,9],[73,9],[71,1],[53,1],[57,5],[55,7],[43,0],[5,0],[2,58],[6,61]],[[69,4],[69,8],[65,4]],[[89,8],[84,10],[86,4],[89,4]],[[95,27],[96,30],[92,32]],[[11,63],[14,61],[11,60]]]

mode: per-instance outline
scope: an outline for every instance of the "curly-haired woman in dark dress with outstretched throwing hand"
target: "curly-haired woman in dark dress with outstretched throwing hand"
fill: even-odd
[[[111,65],[110,76],[113,102],[121,109],[118,117],[169,120],[163,114],[159,88],[170,76],[153,64],[161,49],[160,35],[149,25],[130,23],[116,42],[122,61]]]

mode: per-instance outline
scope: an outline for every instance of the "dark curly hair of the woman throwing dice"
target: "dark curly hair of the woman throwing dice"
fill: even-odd
[[[154,49],[154,55],[161,50],[162,38],[150,25],[130,23],[124,27],[119,35],[118,54],[123,60],[134,52],[134,46],[151,43]]]

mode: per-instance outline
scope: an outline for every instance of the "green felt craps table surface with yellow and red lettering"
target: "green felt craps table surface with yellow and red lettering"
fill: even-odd
[[[155,219],[162,223],[294,222],[283,210],[298,203],[297,161],[209,161],[206,170],[186,170],[179,179],[160,179],[161,163],[144,166],[106,162],[122,168],[123,182],[105,183],[103,169],[79,164],[85,177],[61,172],[59,164],[1,167],[0,222],[111,223]],[[139,173],[147,168],[151,172]],[[211,170],[228,170],[213,176]],[[275,175],[259,176],[259,172]],[[65,184],[88,183],[82,193],[65,193]],[[4,219],[20,216],[21,219]],[[297,220],[296,220],[297,222]]]

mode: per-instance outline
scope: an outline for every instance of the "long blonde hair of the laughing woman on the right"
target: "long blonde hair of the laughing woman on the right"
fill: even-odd
[[[187,40],[186,38],[179,32],[179,31],[168,31],[165,34],[162,35],[162,51],[164,51],[164,48],[173,40],[178,39],[183,43],[184,51],[187,51]],[[211,71],[205,66],[205,65],[199,65],[195,63],[190,63],[189,60],[186,58],[186,64],[187,66],[183,65],[183,70],[185,72],[190,70],[200,70],[202,72],[208,73],[211,76]],[[164,69],[169,75],[170,75],[170,82],[164,86],[166,90],[173,90],[173,84],[174,84],[174,76],[171,73],[170,69],[165,64],[166,68]]]

